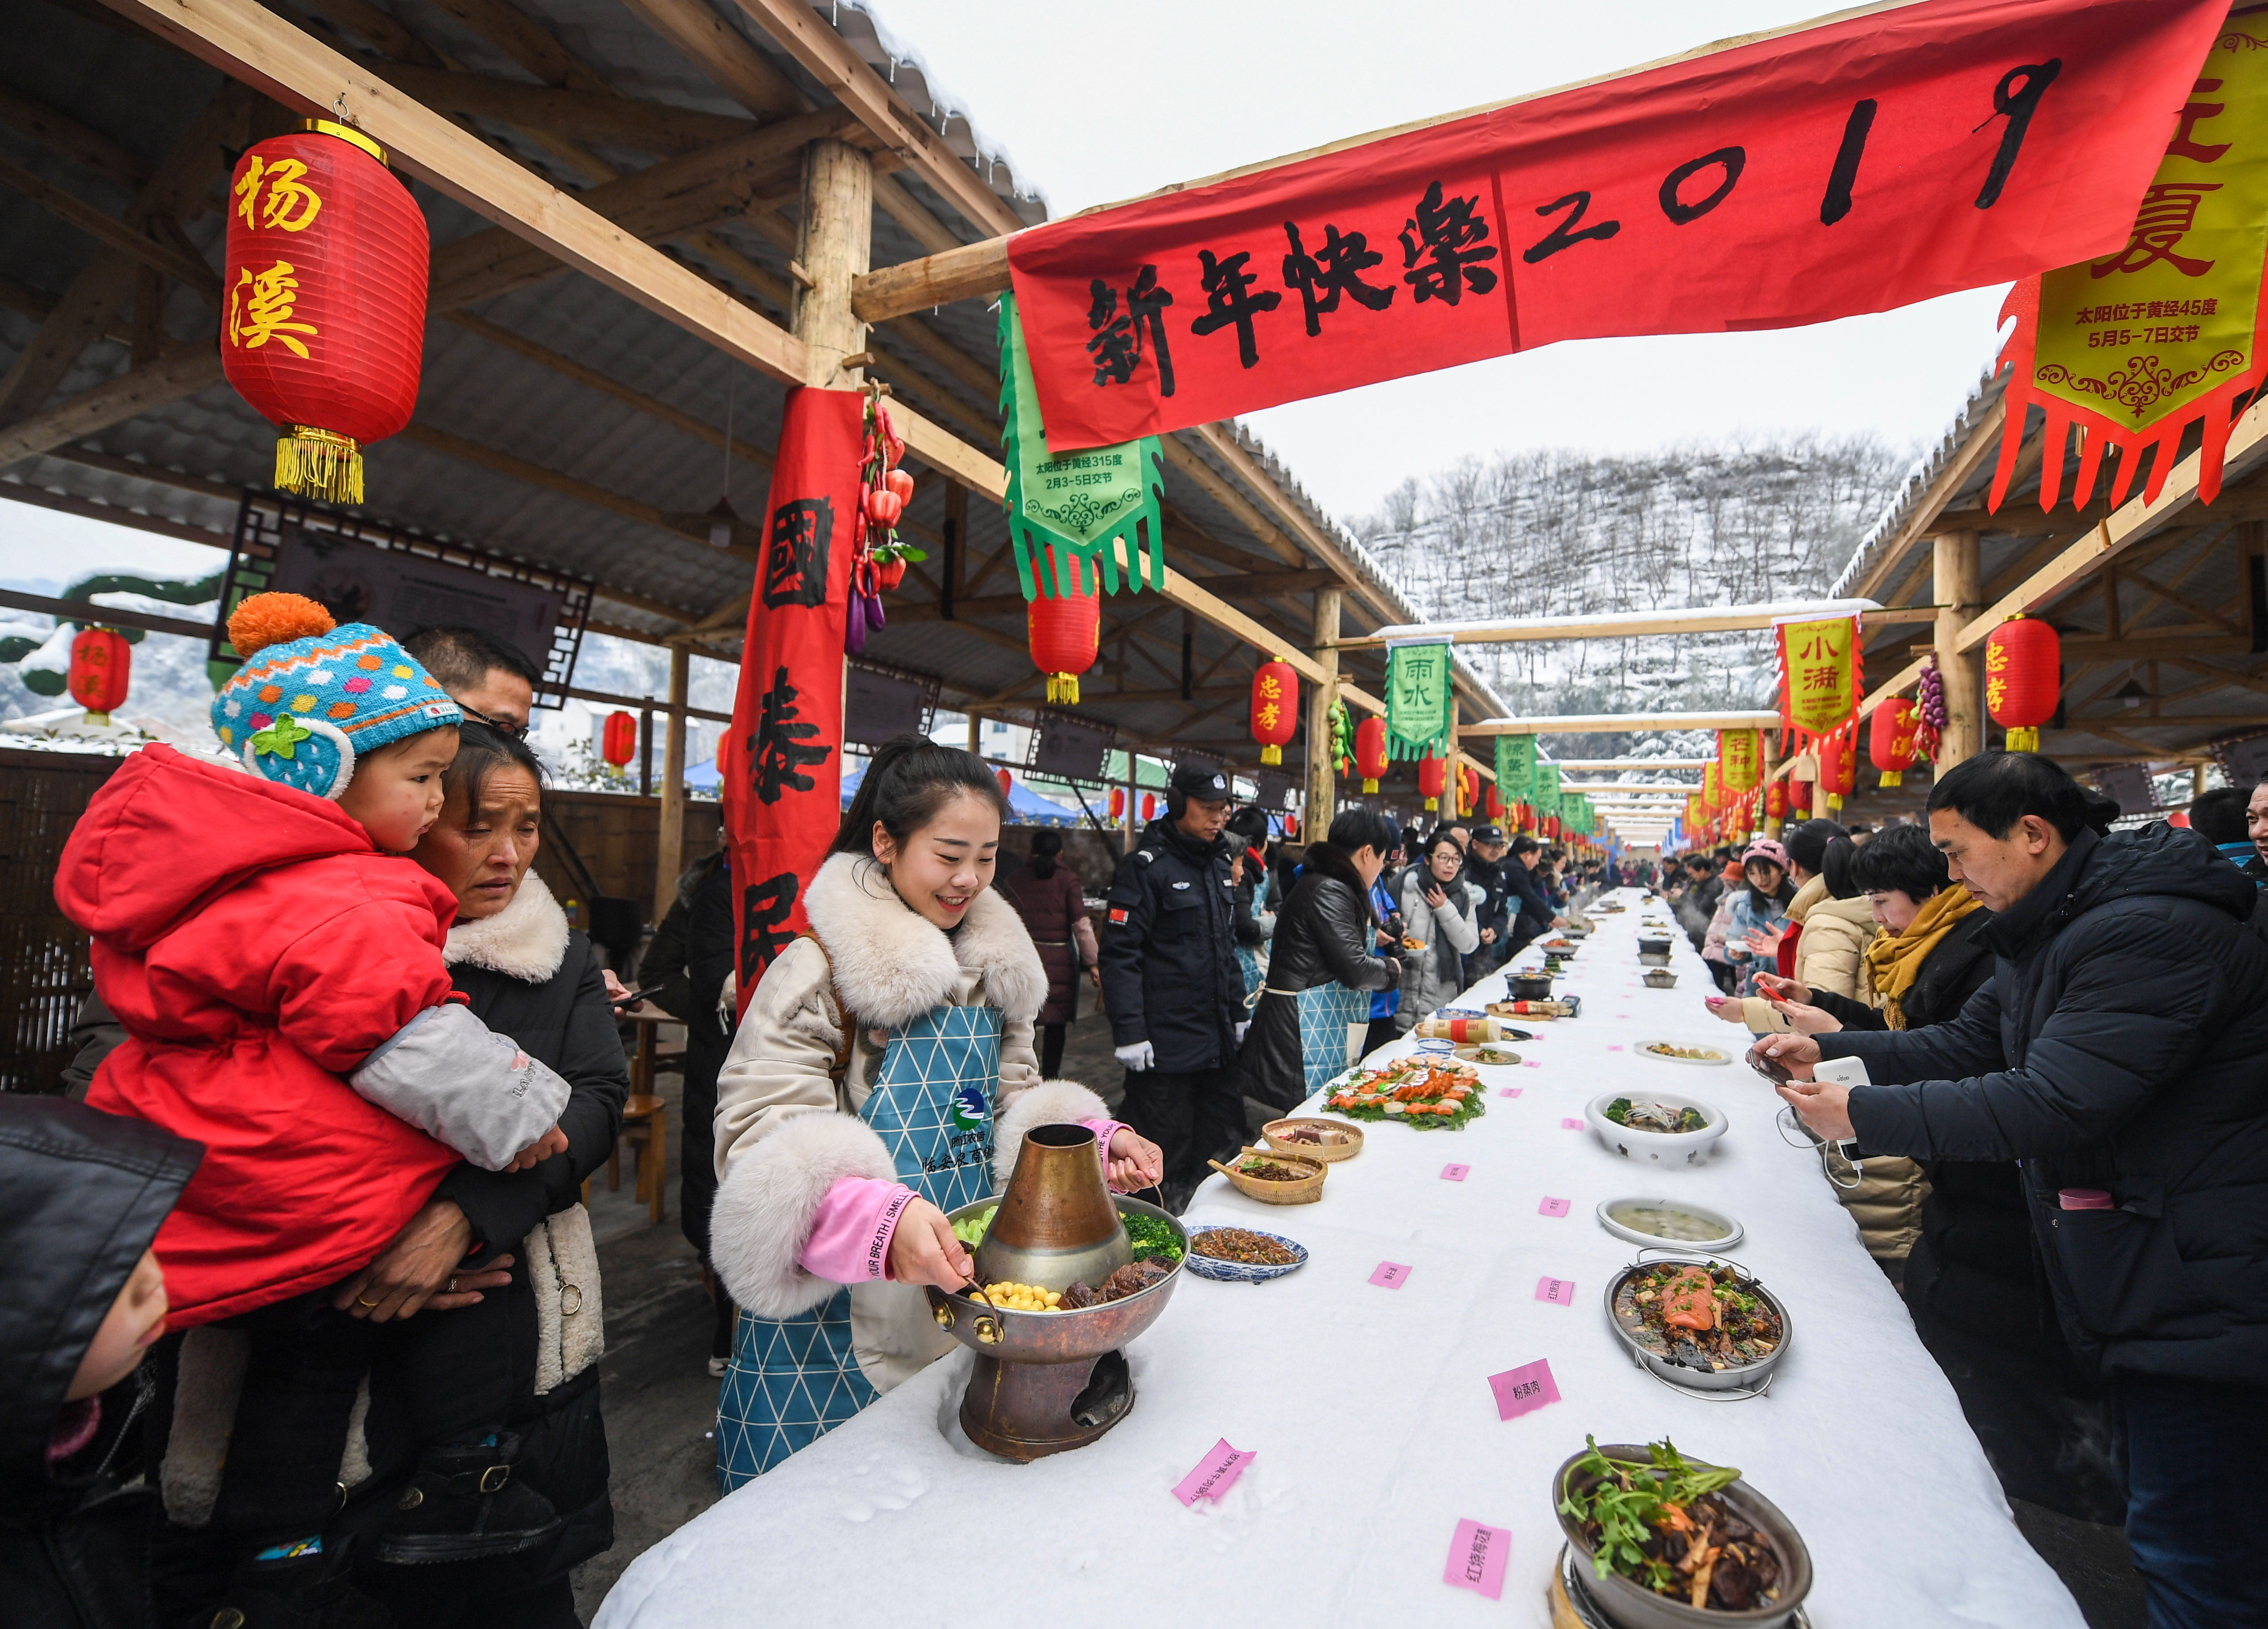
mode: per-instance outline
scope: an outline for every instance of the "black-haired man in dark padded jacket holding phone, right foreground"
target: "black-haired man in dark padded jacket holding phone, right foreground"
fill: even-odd
[[[1796,1075],[1778,1091],[1819,1137],[2023,1164],[2064,1334],[2112,1395],[2150,1622],[2268,1624],[2225,1520],[2268,1454],[2268,946],[2209,842],[2089,814],[2037,753],[1948,769],[1930,839],[1994,912],[1994,980],[1950,1023],[1751,1057]],[[1833,1057],[1878,1084],[1814,1082]]]

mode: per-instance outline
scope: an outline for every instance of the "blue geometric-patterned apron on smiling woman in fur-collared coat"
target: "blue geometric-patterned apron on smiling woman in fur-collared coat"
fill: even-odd
[[[950,1212],[993,1191],[1000,1010],[934,1007],[891,1032],[860,1105],[898,1180]],[[742,1309],[717,1393],[717,1484],[730,1493],[875,1400],[850,1345],[850,1286],[796,1318]]]

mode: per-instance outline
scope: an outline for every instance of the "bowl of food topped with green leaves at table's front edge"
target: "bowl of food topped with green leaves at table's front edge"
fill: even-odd
[[[1583,1441],[1585,1450],[1551,1477],[1551,1504],[1567,1536],[1558,1588],[1576,1622],[1644,1629],[1808,1622],[1810,1550],[1740,1470],[1685,1459],[1669,1438]],[[1683,1565],[1696,1547],[1708,1559]]]

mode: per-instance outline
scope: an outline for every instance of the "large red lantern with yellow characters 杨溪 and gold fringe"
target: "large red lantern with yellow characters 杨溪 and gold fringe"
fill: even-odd
[[[220,365],[281,431],[279,490],[363,501],[363,447],[417,406],[431,259],[424,213],[363,132],[311,118],[236,161]]]

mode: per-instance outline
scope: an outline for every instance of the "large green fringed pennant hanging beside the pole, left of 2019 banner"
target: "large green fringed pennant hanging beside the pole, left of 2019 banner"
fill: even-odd
[[[1118,592],[1118,554],[1125,538],[1127,588],[1166,588],[1166,463],[1157,436],[1048,456],[1039,420],[1032,356],[1023,345],[1016,295],[1000,295],[1000,440],[1007,449],[1007,520],[1016,545],[1023,597],[1077,592],[1064,565],[1089,563],[1102,590]],[[1050,569],[1048,560],[1055,560]],[[1064,581],[1055,581],[1057,574]]]

